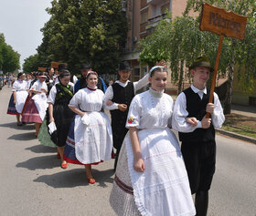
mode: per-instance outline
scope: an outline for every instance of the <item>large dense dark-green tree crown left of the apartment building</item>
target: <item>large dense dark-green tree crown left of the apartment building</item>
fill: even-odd
[[[125,43],[127,21],[121,0],[53,0],[37,48],[41,66],[67,62],[73,72],[88,61],[100,73],[112,73]]]

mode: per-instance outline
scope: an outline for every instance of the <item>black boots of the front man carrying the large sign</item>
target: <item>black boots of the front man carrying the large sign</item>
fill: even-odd
[[[195,201],[196,216],[207,216],[208,214],[208,191],[198,191]]]

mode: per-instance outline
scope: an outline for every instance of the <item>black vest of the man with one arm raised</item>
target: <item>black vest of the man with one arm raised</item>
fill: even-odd
[[[118,83],[114,83],[112,84],[112,92],[113,92],[113,98],[112,98],[113,103],[127,105],[127,110],[124,112],[119,109],[111,110],[112,126],[117,124],[119,126],[123,125],[123,127],[125,127],[128,110],[134,98],[133,83],[128,82],[126,87],[122,87]]]

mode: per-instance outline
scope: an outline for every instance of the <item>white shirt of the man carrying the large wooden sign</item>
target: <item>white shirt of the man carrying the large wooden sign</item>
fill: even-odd
[[[204,94],[207,94],[207,88],[199,90],[197,87],[191,86],[192,90],[198,94],[202,99]],[[187,98],[184,92],[180,93],[176,98],[176,103],[174,107],[174,115],[172,121],[173,129],[177,131],[189,133],[193,132],[195,129],[202,128],[201,121],[197,121],[197,126],[193,127],[187,123],[186,118],[188,116],[187,112]],[[225,121],[225,116],[223,114],[223,109],[219,102],[219,97],[214,93],[214,112],[211,115],[212,124],[215,128],[221,128]]]

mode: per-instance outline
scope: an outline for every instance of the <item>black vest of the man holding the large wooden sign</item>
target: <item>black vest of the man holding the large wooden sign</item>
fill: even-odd
[[[191,87],[188,87],[183,92],[187,98],[187,117],[195,117],[197,120],[202,120],[207,113],[206,108],[210,91],[208,90],[207,95],[204,94],[202,99]],[[215,129],[211,123],[208,129],[195,129],[190,133],[178,132],[178,136],[179,140],[183,142],[211,141],[215,139]]]

